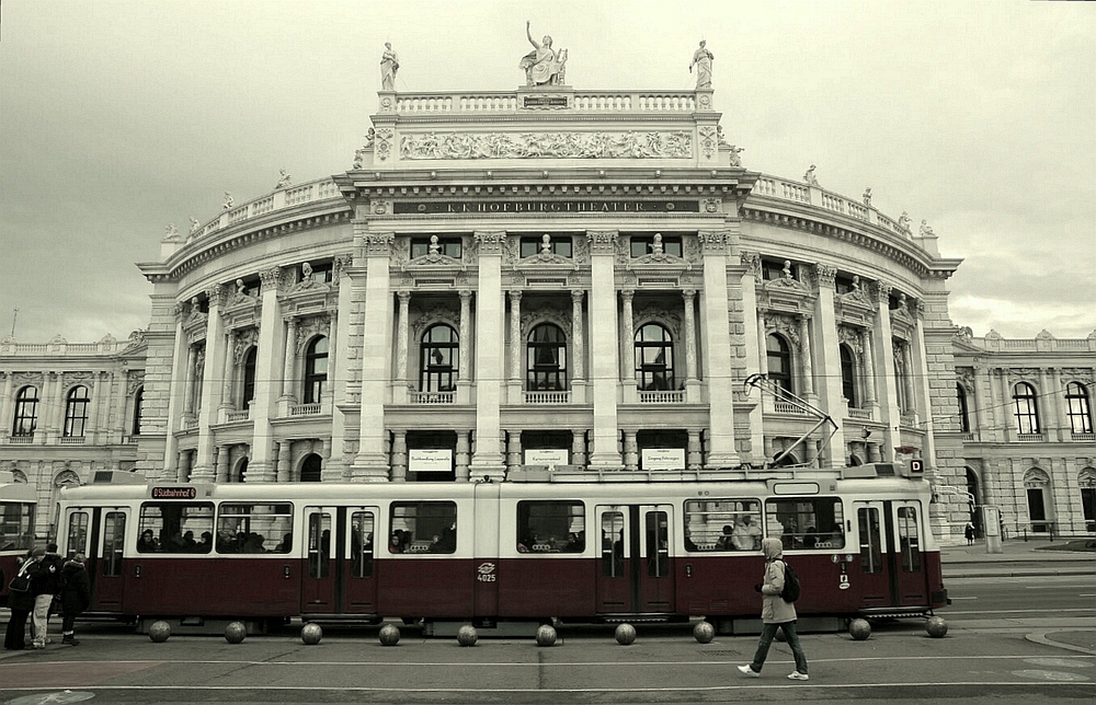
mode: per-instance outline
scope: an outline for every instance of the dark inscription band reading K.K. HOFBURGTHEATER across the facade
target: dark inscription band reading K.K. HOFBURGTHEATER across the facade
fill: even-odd
[[[640,200],[581,198],[556,200],[525,198],[515,200],[406,200],[392,208],[397,216],[409,215],[483,215],[501,213],[672,213],[700,212],[696,199]]]

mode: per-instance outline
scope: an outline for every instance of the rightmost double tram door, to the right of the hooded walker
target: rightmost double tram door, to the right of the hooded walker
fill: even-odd
[[[907,501],[858,501],[854,508],[864,606],[927,604],[920,506]]]

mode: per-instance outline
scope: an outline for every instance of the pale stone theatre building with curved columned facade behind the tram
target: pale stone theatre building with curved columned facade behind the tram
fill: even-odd
[[[1073,459],[1096,455],[1091,411],[1087,436],[1044,436],[1031,454],[1026,438],[963,425],[993,406],[970,404],[964,370],[997,350],[954,342],[960,262],[870,194],[826,190],[813,166],[801,181],[750,171],[719,119],[710,88],[381,91],[349,170],[227,198],[139,265],[153,291],[133,348],[137,469],[220,483],[522,466],[734,478],[785,451],[823,467],[920,456],[950,541],[972,474],[1011,522],[1047,521],[1016,500],[1030,458],[1047,511],[1082,531],[1091,474],[1074,470],[1093,462]],[[1087,377],[1053,383],[1088,394],[1096,349],[1082,343],[1069,365]],[[35,371],[20,365],[0,356],[7,409]],[[745,384],[756,373],[768,391]],[[121,401],[102,406],[123,418]],[[810,407],[832,437],[800,441]],[[978,418],[980,434],[1007,420]],[[18,447],[8,426],[0,466]]]

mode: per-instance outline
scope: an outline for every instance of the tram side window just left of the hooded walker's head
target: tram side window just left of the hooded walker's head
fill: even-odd
[[[689,499],[685,502],[686,551],[761,551],[761,501]]]

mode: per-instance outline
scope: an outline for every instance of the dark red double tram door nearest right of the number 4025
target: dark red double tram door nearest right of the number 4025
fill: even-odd
[[[598,612],[673,612],[672,507],[598,506],[596,512],[601,544]]]

